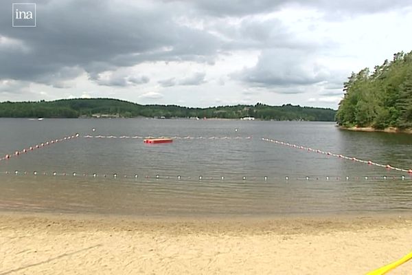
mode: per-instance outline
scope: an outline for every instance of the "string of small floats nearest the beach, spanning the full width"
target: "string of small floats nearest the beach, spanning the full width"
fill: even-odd
[[[410,176],[284,176],[284,177],[268,177],[268,176],[207,176],[207,175],[148,175],[148,174],[126,174],[126,173],[79,173],[79,172],[57,172],[57,171],[27,171],[27,170],[14,170],[0,172],[0,175],[10,176],[50,176],[50,177],[84,177],[84,178],[100,178],[100,179],[139,179],[139,180],[160,180],[160,179],[172,179],[176,181],[412,181],[412,175]]]

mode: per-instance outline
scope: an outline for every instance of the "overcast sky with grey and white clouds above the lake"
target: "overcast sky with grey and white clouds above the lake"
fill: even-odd
[[[336,109],[351,72],[412,50],[410,0],[27,3],[36,28],[0,1],[0,101]]]

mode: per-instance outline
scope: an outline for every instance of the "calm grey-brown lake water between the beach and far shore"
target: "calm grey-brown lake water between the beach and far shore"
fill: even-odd
[[[262,141],[412,168],[412,135],[341,131],[330,122],[0,119],[0,156],[74,133],[80,137],[0,161],[0,210],[149,217],[412,210],[408,173]],[[148,136],[178,138],[144,144]]]

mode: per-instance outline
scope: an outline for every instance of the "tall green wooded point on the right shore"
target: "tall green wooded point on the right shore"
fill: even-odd
[[[412,128],[412,52],[393,55],[393,61],[352,73],[336,113],[338,124],[374,129]]]

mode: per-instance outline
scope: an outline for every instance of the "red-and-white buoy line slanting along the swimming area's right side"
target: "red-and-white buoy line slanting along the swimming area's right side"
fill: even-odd
[[[319,154],[323,154],[323,155],[330,155],[332,157],[338,157],[338,158],[341,158],[341,159],[348,159],[348,160],[352,160],[354,162],[361,162],[361,163],[364,163],[364,164],[379,166],[379,167],[383,167],[383,168],[387,168],[387,169],[391,169],[391,170],[396,170],[396,171],[399,171],[399,172],[406,172],[406,173],[412,174],[412,169],[398,168],[398,167],[391,166],[389,164],[386,164],[386,165],[385,164],[378,164],[376,162],[372,162],[371,160],[363,160],[363,159],[358,159],[356,157],[348,157],[348,156],[341,155],[341,154],[326,152],[326,151],[322,151],[322,150],[319,150],[319,149],[309,148],[309,147],[301,146],[301,145],[297,145],[297,144],[290,144],[288,142],[283,142],[283,141],[279,141],[279,140],[272,140],[272,139],[268,139],[268,138],[265,138],[265,137],[262,137],[262,140],[265,141],[265,142],[272,142],[272,143],[275,143],[275,144],[288,146],[290,148],[297,148],[297,149],[301,149],[301,150],[306,150],[306,151],[311,152],[311,153],[319,153]]]

